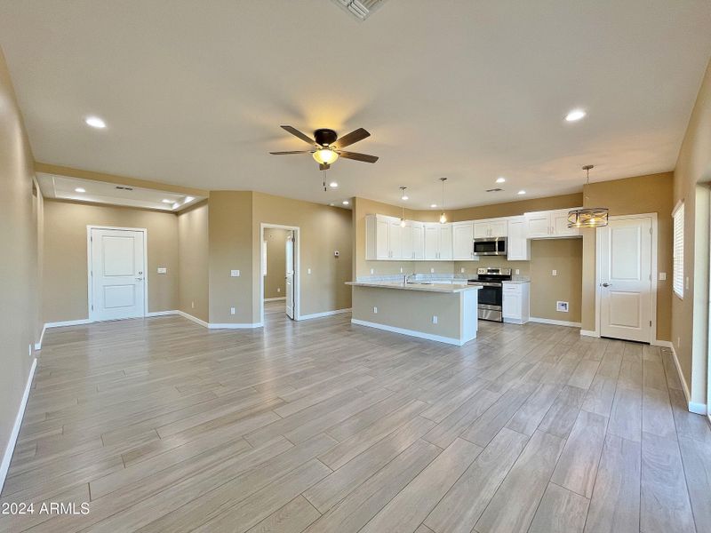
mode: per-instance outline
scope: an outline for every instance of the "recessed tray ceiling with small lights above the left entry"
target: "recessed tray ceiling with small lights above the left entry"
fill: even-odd
[[[46,172],[37,172],[37,181],[45,198],[77,202],[130,205],[160,211],[182,211],[188,206],[204,200],[203,196],[179,195],[170,191],[107,183],[93,179],[68,178]],[[170,202],[164,202],[164,200],[170,200]]]

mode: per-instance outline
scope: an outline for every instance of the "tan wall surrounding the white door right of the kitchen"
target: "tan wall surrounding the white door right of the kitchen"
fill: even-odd
[[[671,331],[672,173],[601,181],[585,187],[586,207],[607,207],[611,215],[657,213],[657,269],[667,273],[657,282],[657,338]],[[583,230],[583,330],[595,330],[595,231]]]

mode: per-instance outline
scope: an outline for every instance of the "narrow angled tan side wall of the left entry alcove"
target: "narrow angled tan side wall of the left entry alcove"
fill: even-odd
[[[205,322],[210,319],[207,222],[206,201],[178,214],[178,308]]]

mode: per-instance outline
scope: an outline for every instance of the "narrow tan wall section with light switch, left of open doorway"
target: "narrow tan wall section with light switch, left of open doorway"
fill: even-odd
[[[259,322],[252,321],[252,195],[244,191],[210,193],[211,323]],[[231,270],[239,270],[239,277],[230,277]],[[230,314],[230,307],[235,307],[235,314]]]

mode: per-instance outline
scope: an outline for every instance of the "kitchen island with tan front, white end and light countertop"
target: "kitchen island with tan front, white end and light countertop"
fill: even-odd
[[[425,282],[347,284],[353,287],[354,324],[456,346],[476,338],[481,287]]]

